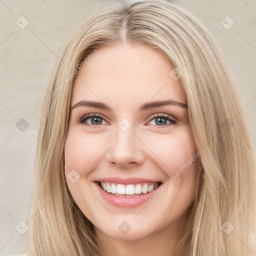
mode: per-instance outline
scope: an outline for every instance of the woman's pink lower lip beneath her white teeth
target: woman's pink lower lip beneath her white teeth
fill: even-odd
[[[94,182],[101,194],[101,196],[110,204],[121,207],[121,208],[130,208],[130,207],[136,207],[146,201],[149,200],[149,197],[153,195],[156,191],[156,189],[153,189],[151,192],[137,195],[134,197],[120,197],[117,195],[113,195],[110,193],[107,193],[104,189],[101,188],[100,184],[98,182]]]

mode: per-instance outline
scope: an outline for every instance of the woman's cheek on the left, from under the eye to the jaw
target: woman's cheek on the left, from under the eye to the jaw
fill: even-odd
[[[92,188],[87,182],[88,174],[95,167],[95,154],[103,145],[102,138],[99,137],[72,130],[67,133],[64,146],[64,171],[68,189],[76,204],[90,219],[93,219],[94,210],[100,207],[89,192]],[[74,182],[69,179],[70,176],[75,176]]]

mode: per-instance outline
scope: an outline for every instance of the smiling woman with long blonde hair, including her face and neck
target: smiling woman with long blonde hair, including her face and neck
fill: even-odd
[[[100,7],[46,88],[28,255],[253,255],[242,108],[217,42],[187,10]]]

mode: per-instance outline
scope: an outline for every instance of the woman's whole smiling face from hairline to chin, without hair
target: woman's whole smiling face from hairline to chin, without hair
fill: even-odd
[[[173,68],[160,51],[122,44],[99,48],[75,78],[65,176],[98,234],[149,236],[194,200],[198,155]]]

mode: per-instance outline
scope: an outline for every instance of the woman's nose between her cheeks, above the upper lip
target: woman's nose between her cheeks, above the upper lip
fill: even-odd
[[[143,162],[143,143],[135,135],[132,127],[127,131],[117,128],[115,136],[108,143],[106,160],[111,165],[118,165],[121,168],[134,167]]]

